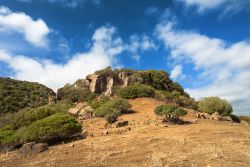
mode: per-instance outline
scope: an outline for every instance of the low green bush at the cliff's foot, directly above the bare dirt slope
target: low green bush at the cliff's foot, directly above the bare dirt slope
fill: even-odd
[[[133,84],[121,88],[119,95],[125,99],[134,99],[138,97],[154,97],[154,88],[143,84]]]

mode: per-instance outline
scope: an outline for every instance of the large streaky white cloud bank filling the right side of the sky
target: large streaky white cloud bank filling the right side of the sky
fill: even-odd
[[[229,100],[237,114],[250,114],[250,43],[240,41],[228,44],[192,31],[178,30],[172,22],[163,22],[156,34],[171,56],[179,62],[192,62],[203,72],[201,79],[211,84],[187,89],[196,99],[220,96]],[[196,78],[197,80],[200,78]]]

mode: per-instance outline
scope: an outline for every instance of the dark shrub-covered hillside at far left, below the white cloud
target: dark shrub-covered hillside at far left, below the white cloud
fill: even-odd
[[[55,97],[53,90],[35,82],[0,78],[0,115],[26,107],[38,107]]]

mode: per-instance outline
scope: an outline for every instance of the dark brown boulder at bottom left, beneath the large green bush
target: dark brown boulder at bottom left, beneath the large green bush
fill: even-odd
[[[30,153],[40,153],[43,152],[45,150],[48,149],[48,144],[46,143],[35,143],[35,142],[31,142],[31,143],[26,143],[23,144],[23,146],[19,149],[19,151],[22,154],[30,154]]]

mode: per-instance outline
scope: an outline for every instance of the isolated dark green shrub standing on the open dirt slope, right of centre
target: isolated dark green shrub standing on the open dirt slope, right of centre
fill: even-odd
[[[187,114],[187,111],[173,104],[157,106],[154,112],[156,115],[164,116],[168,122],[175,122],[180,116]]]

